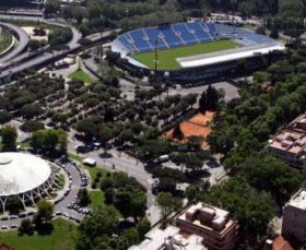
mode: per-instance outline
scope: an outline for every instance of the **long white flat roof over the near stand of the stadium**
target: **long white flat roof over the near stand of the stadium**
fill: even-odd
[[[177,58],[177,61],[181,66],[181,68],[192,68],[250,58],[260,53],[267,55],[273,50],[285,50],[285,46],[282,44],[259,45],[252,47],[244,47],[240,49],[228,49],[219,52]]]

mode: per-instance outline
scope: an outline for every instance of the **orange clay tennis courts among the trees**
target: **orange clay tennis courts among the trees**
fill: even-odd
[[[207,111],[204,115],[199,112],[191,117],[188,121],[184,121],[180,123],[180,130],[184,133],[185,138],[188,138],[190,135],[196,135],[196,136],[202,136],[205,139],[210,133],[211,133],[211,127],[210,122],[212,121],[214,116],[214,112]],[[164,136],[166,136],[169,140],[173,139],[173,129],[167,131]],[[177,140],[175,140],[177,141]],[[185,142],[186,140],[184,139],[181,142]],[[208,144],[205,141],[202,143],[202,148],[207,148]]]

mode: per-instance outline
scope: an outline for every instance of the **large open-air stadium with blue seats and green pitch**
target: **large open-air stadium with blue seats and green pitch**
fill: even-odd
[[[191,22],[129,31],[113,41],[111,50],[126,59],[128,70],[146,75],[156,72],[160,78],[205,79],[235,73],[242,60],[251,61],[256,70],[258,59],[283,51],[285,46],[245,28]],[[197,72],[200,68],[201,73]],[[190,74],[186,76],[186,72]]]

